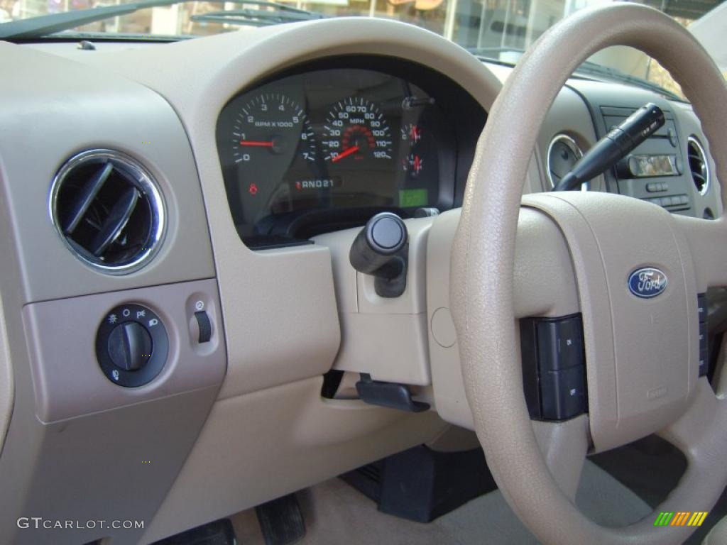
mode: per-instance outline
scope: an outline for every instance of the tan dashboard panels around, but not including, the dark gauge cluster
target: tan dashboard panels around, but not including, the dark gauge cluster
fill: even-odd
[[[484,65],[432,33],[372,19],[296,23],[165,45],[100,45],[95,52],[65,44],[0,42],[0,233],[5,233],[0,238],[0,542],[63,545],[111,537],[114,544],[151,543],[431,442],[449,424],[472,427],[449,316],[446,246],[458,221],[467,161],[457,163],[459,172],[451,179],[446,172],[439,174],[438,184],[451,185],[443,206],[451,210],[440,216],[414,217],[420,205],[439,203],[420,199],[423,182],[400,180],[396,183],[404,185],[397,186],[397,193],[389,195],[388,188],[377,194],[383,199],[377,203],[390,206],[394,201],[386,199],[398,198],[396,207],[411,213],[406,220],[409,277],[397,299],[379,296],[371,278],[350,266],[348,249],[360,227],[319,229],[296,243],[256,248],[245,240],[252,231],[243,235],[230,210],[230,179],[220,162],[220,113],[236,97],[244,100],[236,105],[235,116],[251,103],[260,108],[260,96],[277,97],[292,108],[304,100],[295,97],[300,89],[294,83],[287,81],[284,91],[265,85],[285,82],[284,77],[306,66],[321,69],[321,62],[334,62],[340,67],[347,60],[355,66],[343,69],[373,70],[387,78],[397,68],[425,69],[451,86],[449,95],[446,86],[429,93],[436,95],[443,113],[465,115],[466,104],[475,110],[473,118],[486,115],[510,70]],[[41,80],[46,83],[39,85]],[[418,82],[417,89],[428,93],[426,83]],[[350,81],[341,85],[346,84]],[[378,115],[384,108],[380,104],[391,97],[406,99],[385,89],[380,104],[364,105],[361,93],[359,86],[350,96],[361,97],[356,104],[364,108],[362,116]],[[318,125],[310,126],[311,134],[321,135],[322,163],[330,164],[332,149],[349,153],[353,163],[358,150],[347,150],[367,145],[355,140],[363,129],[351,129],[354,140],[346,142],[337,140],[330,127],[321,132],[331,111],[336,116],[345,112],[345,106],[336,110],[334,103],[349,94],[339,94],[313,114],[319,114]],[[622,86],[572,81],[545,120],[526,192],[550,188],[554,141],[573,142],[582,151],[597,140],[602,127],[594,121],[594,104],[627,110],[654,97]],[[455,99],[462,99],[459,106],[448,102]],[[666,105],[680,127],[678,149],[686,153],[688,137],[701,139],[704,161],[712,164],[688,105],[655,100]],[[407,123],[414,122],[396,119],[389,136],[409,134]],[[455,139],[470,163],[479,129]],[[223,162],[235,161],[233,153],[247,150],[242,148],[257,152],[281,142],[277,134],[265,132],[243,137],[234,124],[224,130],[234,142]],[[439,137],[447,134],[443,130]],[[70,193],[63,195],[70,196],[56,202],[53,180],[69,159],[88,150],[113,150],[117,174],[104,173],[105,163],[89,163],[88,170],[71,173],[78,179],[68,178]],[[375,150],[387,152],[385,145]],[[393,173],[403,165],[406,171],[414,151],[392,148],[391,153],[399,154],[398,162],[387,168]],[[305,160],[301,155],[300,161]],[[377,171],[377,164],[371,161],[366,176]],[[264,183],[270,168],[262,161],[259,165],[262,172],[254,176],[262,182],[244,171],[239,174],[249,195],[251,184]],[[124,177],[133,178],[138,171],[153,180],[161,195],[149,214],[157,219],[163,214],[163,228],[156,237],[139,238],[142,253],[128,246],[128,255],[105,253],[121,240],[120,230],[130,227],[119,222],[116,228],[104,219],[100,234],[76,233],[84,214],[92,213],[84,208],[84,198],[106,195],[89,188],[96,184],[113,199],[104,210],[117,204],[124,209],[124,203],[133,209],[131,201],[151,192],[124,189]],[[688,172],[682,174],[687,180]],[[119,177],[111,178],[119,187],[116,193],[108,189],[112,182],[101,179],[113,175]],[[316,179],[339,175],[344,174],[334,171]],[[286,184],[295,190],[296,182],[308,180],[300,176]],[[515,181],[503,180],[509,182]],[[613,183],[600,177],[590,189],[613,190]],[[683,183],[690,214],[701,217],[706,209],[721,214],[716,179],[704,192]],[[401,193],[406,190],[419,193]],[[406,198],[414,198],[409,203],[417,206],[403,206]],[[66,208],[56,213],[54,206]],[[278,201],[275,206],[296,211],[300,201],[290,209]],[[241,211],[243,222],[245,214],[258,213],[250,210]],[[128,225],[146,228],[143,219],[129,214]],[[116,238],[105,233],[105,225]],[[525,253],[521,257],[528,259]],[[569,267],[558,269],[569,263],[567,255],[561,257],[546,263],[521,261],[522,270],[536,275],[551,267],[550,273],[567,275]],[[98,266],[113,265],[113,259],[118,267]],[[134,266],[124,270],[129,263]],[[528,294],[522,295],[524,300]],[[537,299],[529,304],[545,314],[563,310],[538,308]],[[568,305],[572,310],[577,301]],[[117,331],[116,320],[132,325]],[[125,376],[134,376],[126,371],[148,365],[144,331],[156,335],[153,328],[160,324],[168,342],[164,362],[147,382],[122,384]],[[110,349],[113,361],[104,368],[99,353],[113,345],[114,335],[126,339],[127,347],[138,347],[136,360],[126,352],[116,360]],[[324,397],[324,375],[332,370],[340,372],[342,381]],[[351,381],[361,373],[410,385],[433,410],[405,413],[353,398]],[[144,527],[29,533],[16,524],[23,516],[107,518],[110,502],[119,519],[143,520]]]

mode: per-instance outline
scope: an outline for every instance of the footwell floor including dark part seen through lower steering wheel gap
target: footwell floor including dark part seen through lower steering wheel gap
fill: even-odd
[[[646,437],[591,456],[576,503],[595,522],[623,526],[650,514],[678,483],[684,457],[668,443]],[[302,545],[537,545],[499,491],[484,494],[428,524],[377,510],[374,501],[340,479],[297,493],[305,518]],[[699,545],[727,516],[727,491],[686,545]],[[241,545],[264,545],[254,509],[231,517]]]

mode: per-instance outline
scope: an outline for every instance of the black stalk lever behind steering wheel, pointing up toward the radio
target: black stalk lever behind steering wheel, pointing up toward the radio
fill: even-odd
[[[553,191],[576,189],[598,174],[602,174],[654,134],[663,124],[664,112],[659,106],[653,102],[643,105],[598,140],[593,148],[579,159],[573,169],[553,187]]]

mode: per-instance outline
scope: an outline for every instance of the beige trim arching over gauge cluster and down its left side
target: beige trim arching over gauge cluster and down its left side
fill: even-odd
[[[230,217],[214,137],[217,116],[234,94],[292,65],[332,55],[419,62],[457,81],[486,110],[500,88],[481,62],[451,42],[412,25],[362,17],[84,57],[100,70],[123,73],[156,90],[188,133],[209,219],[228,342],[222,399],[323,374],[339,350],[329,250],[308,246],[254,252],[244,246]]]

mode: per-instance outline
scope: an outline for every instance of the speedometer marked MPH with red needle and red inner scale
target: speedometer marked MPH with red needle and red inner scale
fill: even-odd
[[[364,97],[349,97],[331,108],[322,143],[324,158],[331,163],[378,163],[393,158],[389,124],[376,105]]]

